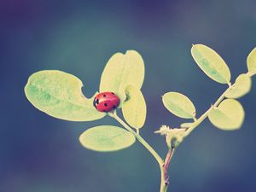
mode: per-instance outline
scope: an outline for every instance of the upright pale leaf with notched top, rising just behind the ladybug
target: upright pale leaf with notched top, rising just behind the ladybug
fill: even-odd
[[[144,62],[142,56],[135,50],[114,54],[108,61],[102,73],[100,92],[112,91],[120,98],[119,108],[125,101],[125,88],[133,84],[141,89],[144,80]]]

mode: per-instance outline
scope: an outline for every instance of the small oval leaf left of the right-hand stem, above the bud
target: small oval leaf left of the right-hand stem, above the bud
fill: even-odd
[[[162,100],[171,113],[181,118],[195,119],[195,106],[187,96],[177,92],[168,92]]]

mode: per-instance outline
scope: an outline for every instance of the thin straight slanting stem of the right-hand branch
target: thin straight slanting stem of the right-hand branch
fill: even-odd
[[[184,133],[184,135],[183,135],[183,138],[189,136],[189,134],[190,134],[192,131],[194,131],[195,128],[196,128],[198,125],[200,125],[201,122],[202,122],[204,119],[207,118],[208,114],[212,111],[213,108],[217,108],[217,107],[218,107],[218,104],[224,100],[226,92],[228,92],[230,89],[232,89],[231,84],[229,84],[228,89],[225,90],[224,93],[223,93],[221,96],[218,97],[218,100],[217,100],[216,102],[214,102],[214,104],[211,106],[211,108],[209,108],[206,113],[203,113],[200,118],[196,119],[196,120],[194,121],[194,123],[192,123],[192,124],[189,126],[189,129],[188,129],[187,131],[185,131],[185,133]]]

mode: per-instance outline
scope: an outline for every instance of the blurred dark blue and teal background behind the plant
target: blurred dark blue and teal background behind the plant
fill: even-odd
[[[256,2],[3,0],[0,3],[0,192],[159,191],[156,161],[140,143],[114,153],[82,148],[79,135],[113,119],[75,123],[54,119],[26,100],[34,72],[58,69],[84,82],[92,96],[108,58],[136,49],[143,55],[143,94],[148,117],[143,137],[162,156],[160,125],[183,123],[163,107],[161,96],[180,91],[200,115],[226,89],[201,72],[191,44],[207,44],[229,64],[232,81],[247,72],[256,46]],[[203,122],[177,149],[170,192],[254,192],[256,79],[240,99],[246,111],[239,131]]]

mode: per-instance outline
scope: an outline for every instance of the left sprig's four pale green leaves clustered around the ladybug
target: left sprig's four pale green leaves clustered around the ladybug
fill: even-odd
[[[147,113],[140,90],[143,80],[143,58],[137,51],[128,50],[109,59],[99,87],[101,92],[113,91],[119,96],[119,108],[122,108],[126,122],[137,130],[143,127]],[[31,75],[25,93],[34,107],[58,119],[91,121],[105,117],[107,113],[94,108],[94,96],[87,98],[83,95],[82,86],[82,81],[72,74],[47,70]],[[84,131],[79,141],[91,150],[114,151],[131,146],[135,137],[120,127],[102,125]]]

